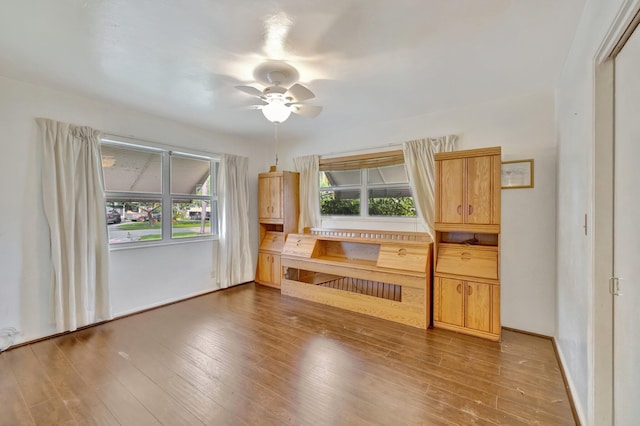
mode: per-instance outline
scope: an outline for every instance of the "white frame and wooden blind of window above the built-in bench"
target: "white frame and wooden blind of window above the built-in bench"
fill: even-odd
[[[398,164],[405,164],[404,153],[402,150],[383,151],[376,153],[352,155],[345,157],[333,157],[333,158],[321,158],[319,162],[318,181],[323,172],[331,171],[345,171],[345,170],[359,170],[360,171],[360,184],[359,185],[347,185],[347,186],[325,186],[319,188],[318,197],[323,191],[336,190],[359,190],[360,191],[360,214],[358,215],[324,215],[322,214],[322,207],[320,208],[320,217],[324,219],[375,219],[375,220],[415,220],[417,213],[414,216],[372,216],[369,214],[369,189],[393,189],[393,188],[408,188],[413,199],[413,191],[411,185],[408,182],[402,183],[369,183],[369,169],[375,167],[392,166]],[[405,166],[406,167],[406,166]],[[406,169],[405,169],[406,170]],[[415,206],[415,201],[414,201]]]

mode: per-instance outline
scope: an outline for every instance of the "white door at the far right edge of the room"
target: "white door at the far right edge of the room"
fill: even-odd
[[[596,176],[597,178],[597,176]],[[614,419],[640,424],[640,30],[615,58]]]

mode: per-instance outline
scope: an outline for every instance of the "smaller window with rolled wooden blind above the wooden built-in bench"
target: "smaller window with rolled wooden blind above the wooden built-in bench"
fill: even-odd
[[[414,217],[402,151],[320,160],[320,213]]]

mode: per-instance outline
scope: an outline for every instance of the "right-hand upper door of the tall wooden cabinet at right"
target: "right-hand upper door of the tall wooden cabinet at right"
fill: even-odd
[[[490,156],[467,159],[466,223],[490,224],[493,207],[492,159]]]

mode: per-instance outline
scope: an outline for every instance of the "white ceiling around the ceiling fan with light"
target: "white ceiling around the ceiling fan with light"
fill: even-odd
[[[316,94],[306,103],[324,107],[282,125],[304,138],[551,90],[583,4],[6,0],[0,75],[251,138],[272,125],[234,86],[284,60]]]

